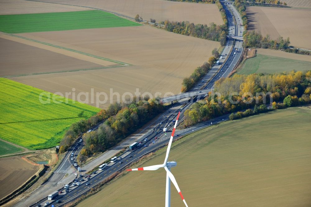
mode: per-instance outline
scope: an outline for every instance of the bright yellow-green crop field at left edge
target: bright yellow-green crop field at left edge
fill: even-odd
[[[64,132],[74,122],[100,111],[87,104],[56,96],[62,103],[42,104],[40,90],[5,78],[0,78],[0,138],[28,149],[42,149],[57,145]]]

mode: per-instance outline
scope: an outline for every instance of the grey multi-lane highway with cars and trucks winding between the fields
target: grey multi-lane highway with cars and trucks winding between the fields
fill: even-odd
[[[233,7],[233,5],[231,4],[224,4],[223,6],[225,8],[226,14],[227,14],[227,18],[228,18],[228,22],[229,22],[229,35],[232,36],[238,36],[238,37],[242,37],[243,34],[243,27],[239,25],[239,14],[238,12],[235,10],[235,8]],[[233,14],[233,16],[232,16]],[[236,21],[234,21],[234,18]],[[235,50],[235,48],[237,50]],[[242,41],[235,41],[234,39],[228,38],[227,39],[227,44],[224,48],[224,50],[222,51],[222,53],[220,54],[220,56],[223,57],[223,59],[220,59],[220,65],[217,66],[213,66],[211,68],[211,70],[206,74],[206,76],[204,76],[202,78],[202,80],[197,83],[197,85],[190,90],[190,96],[193,95],[197,95],[196,93],[198,93],[198,91],[204,91],[199,93],[202,94],[203,96],[205,95],[205,93],[207,93],[208,91],[210,91],[211,89],[214,88],[215,82],[217,80],[219,80],[220,78],[224,78],[227,77],[230,72],[234,69],[235,65],[237,64],[239,58],[241,57],[243,52],[243,47],[242,47]],[[235,53],[235,54],[234,54]],[[182,95],[182,94],[180,94]],[[202,96],[200,95],[200,96]],[[185,96],[187,97],[187,95]],[[179,96],[179,98],[185,98],[183,96]],[[189,96],[188,96],[189,97]],[[171,101],[171,100],[169,100]],[[168,101],[168,102],[169,102]],[[75,198],[77,198],[78,196],[80,196],[81,194],[85,193],[86,191],[88,191],[89,188],[91,188],[92,186],[96,185],[97,183],[101,182],[102,180],[104,180],[105,178],[107,178],[109,175],[120,171],[121,169],[123,169],[126,165],[128,165],[129,163],[131,163],[132,161],[139,159],[140,157],[142,157],[144,154],[147,154],[153,150],[158,149],[160,146],[165,145],[165,143],[169,140],[169,136],[170,136],[170,132],[168,132],[167,134],[163,133],[162,129],[164,127],[167,127],[169,130],[171,130],[172,128],[172,120],[174,120],[175,116],[177,115],[177,113],[179,111],[181,111],[181,116],[180,116],[180,120],[183,119],[183,111],[186,110],[187,108],[189,108],[191,106],[192,103],[188,103],[185,106],[183,106],[183,108],[176,108],[176,105],[173,105],[172,108],[168,109],[164,114],[160,115],[154,122],[152,122],[150,125],[148,125],[143,131],[142,136],[137,136],[136,138],[133,139],[129,139],[130,142],[134,142],[134,141],[142,141],[142,146],[138,147],[136,150],[126,150],[124,152],[124,154],[121,155],[122,159],[119,159],[117,162],[115,163],[109,163],[108,167],[103,170],[103,171],[97,171],[96,174],[91,174],[90,175],[90,180],[87,180],[87,175],[84,174],[84,177],[79,177],[78,180],[81,181],[81,179],[84,179],[85,181],[80,182],[81,185],[79,186],[71,186],[69,189],[68,193],[61,193],[58,198],[56,200],[61,200],[61,203],[56,203],[56,200],[47,200],[47,199],[41,199],[39,201],[39,203],[41,205],[44,205],[45,202],[49,202],[49,205],[54,205],[54,206],[62,206],[67,202],[70,202],[71,200],[74,200]],[[196,131],[198,129],[201,129],[203,127],[207,127],[209,125],[213,125],[216,124],[218,122],[222,122],[228,119],[229,115],[225,115],[222,117],[218,117],[215,118],[213,120],[209,120],[208,122],[203,122],[200,123],[196,126],[190,127],[188,129],[185,130],[181,130],[181,131],[176,131],[176,136],[174,138],[178,138],[178,136],[181,135],[185,135],[188,133],[192,133],[193,131]],[[96,126],[98,127],[98,126]],[[153,131],[152,129],[155,128],[155,131]],[[144,139],[147,138],[147,141],[145,142]],[[128,142],[125,144],[128,145]],[[75,149],[76,147],[76,149]],[[122,145],[119,145],[116,147],[116,149],[121,150],[123,148]],[[82,149],[81,143],[79,143],[79,139],[77,141],[77,143],[72,146],[72,149],[70,151],[67,152],[67,154],[65,155],[65,158],[63,159],[63,161],[60,163],[60,165],[58,166],[58,168],[56,169],[54,175],[50,178],[50,180],[53,181],[53,179],[60,181],[60,177],[62,177],[62,181],[64,181],[64,184],[67,182],[71,182],[72,176],[68,176],[67,180],[66,178],[63,178],[65,173],[68,171],[68,169],[74,170],[74,168],[72,167],[72,162],[73,160],[71,160],[71,156],[69,156],[72,152],[74,152],[74,154],[78,154],[80,152],[80,150]],[[106,157],[109,157],[109,153],[104,154]],[[113,155],[113,153],[111,154]],[[110,156],[112,157],[112,156]],[[101,158],[101,157],[100,157]],[[99,164],[102,163],[103,160],[105,159],[95,159],[93,161],[94,166],[98,166]],[[120,163],[121,162],[121,163]],[[86,166],[82,167],[82,170],[86,173]],[[92,169],[91,166],[88,166],[88,168]],[[89,170],[89,169],[88,169]],[[86,185],[86,183],[89,183],[89,185]],[[47,187],[43,187],[40,190],[37,190],[36,192],[34,192],[33,195],[31,196],[36,196],[36,200],[39,200],[40,198],[42,198],[42,193],[44,193],[44,196],[47,196],[49,193],[55,191],[56,187],[52,185],[52,188],[49,189],[49,185],[46,185]],[[44,189],[44,191],[43,191]],[[62,191],[64,191],[64,189],[62,189]],[[46,194],[46,195],[45,195]],[[33,204],[31,206],[36,206],[37,204]],[[17,205],[17,206],[28,206],[25,205],[25,203],[23,205]]]

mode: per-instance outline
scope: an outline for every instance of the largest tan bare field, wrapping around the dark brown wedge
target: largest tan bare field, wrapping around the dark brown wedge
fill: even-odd
[[[219,42],[174,34],[146,25],[20,35],[132,64],[104,70],[12,78],[52,93],[65,94],[72,92],[72,88],[76,89],[76,94],[90,93],[93,88],[94,93],[108,94],[109,101],[117,99],[117,96],[110,98],[110,88],[121,96],[124,92],[134,94],[136,88],[141,93],[160,92],[162,97],[166,92],[179,93],[183,78],[208,61],[212,49],[220,46]],[[100,99],[103,100],[104,96]],[[96,106],[91,96],[87,101]],[[97,107],[106,107],[109,101]]]

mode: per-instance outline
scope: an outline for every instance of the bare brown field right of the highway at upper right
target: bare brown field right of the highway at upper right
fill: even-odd
[[[311,48],[311,12],[306,9],[247,7],[248,30],[256,30],[272,39],[290,38],[290,45]]]

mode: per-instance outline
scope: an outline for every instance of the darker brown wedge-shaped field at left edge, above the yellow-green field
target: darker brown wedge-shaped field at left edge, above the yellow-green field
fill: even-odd
[[[2,38],[0,38],[0,47],[0,76],[2,77],[104,67]]]

